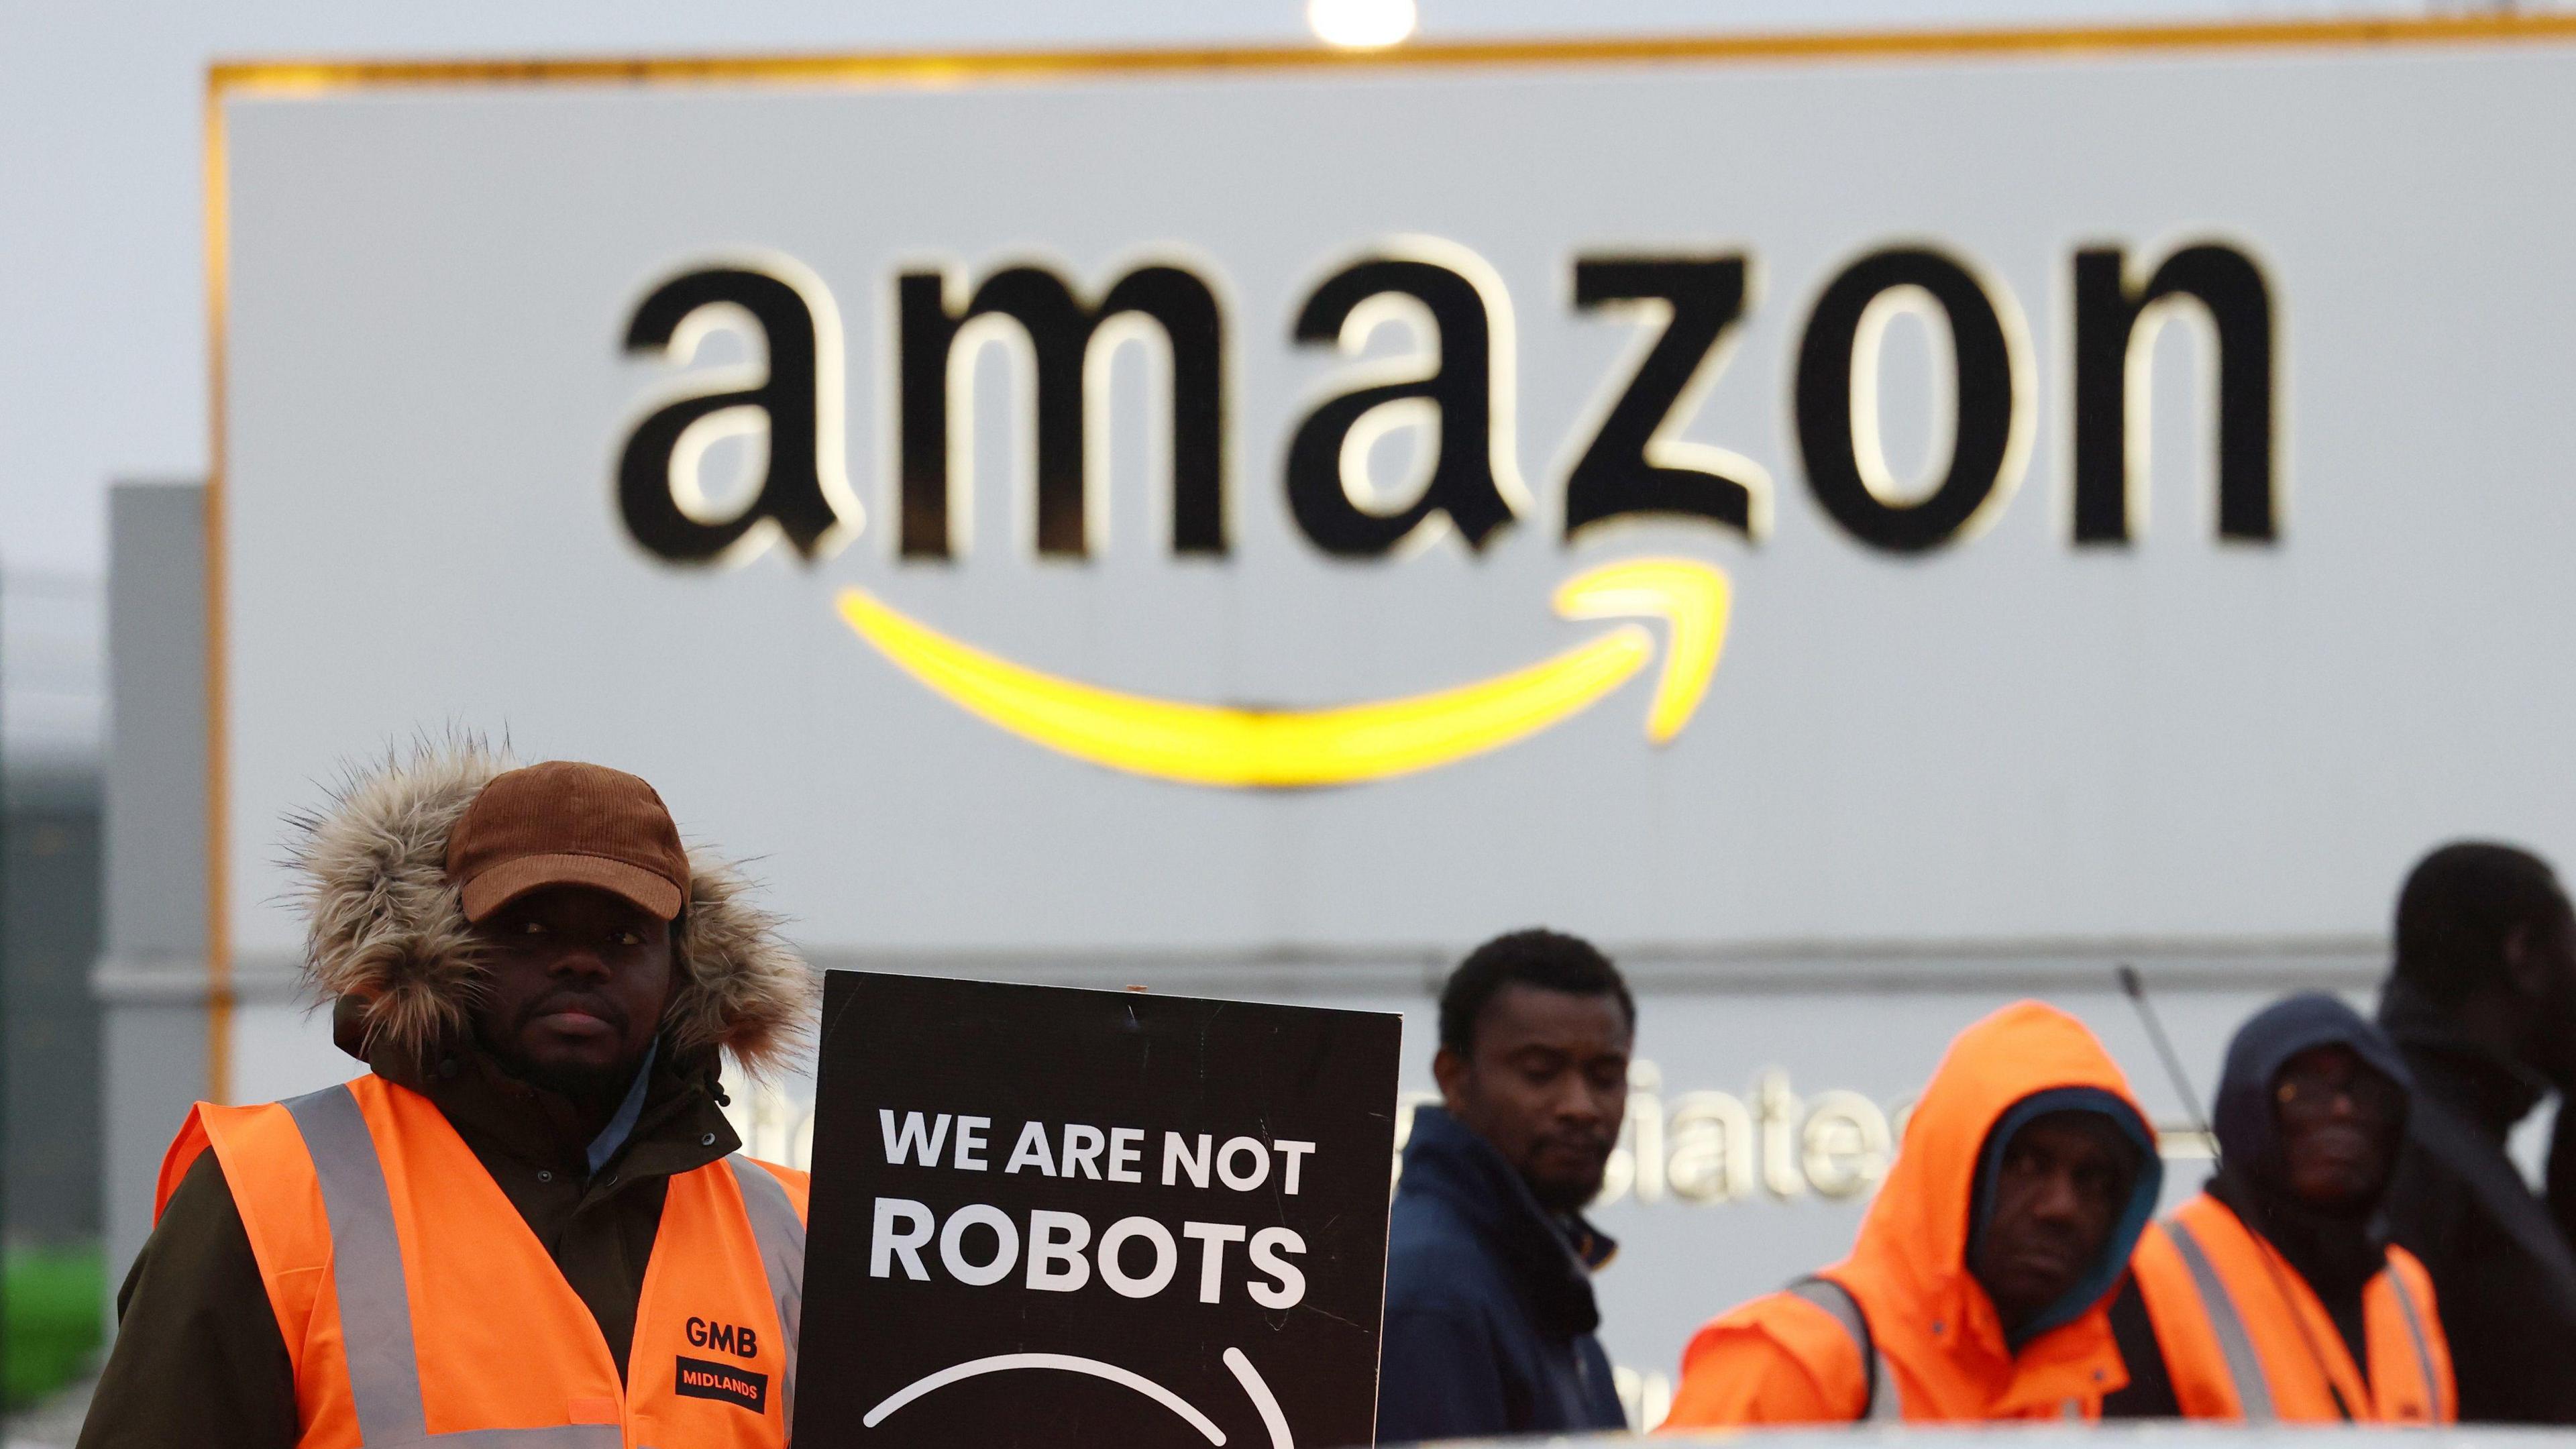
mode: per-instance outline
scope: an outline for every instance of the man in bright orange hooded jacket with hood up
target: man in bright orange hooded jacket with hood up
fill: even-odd
[[[2022,1000],[1950,1042],[1852,1256],[1690,1341],[1664,1428],[2099,1418],[2107,1302],[2164,1181],[2092,1031]]]

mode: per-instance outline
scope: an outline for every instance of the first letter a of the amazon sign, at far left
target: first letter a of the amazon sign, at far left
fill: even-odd
[[[778,534],[806,559],[858,531],[842,474],[840,312],[822,281],[786,258],[680,273],[636,307],[629,353],[696,356],[726,325],[760,333],[765,366],[721,369],[724,384],[662,402],[626,436],[618,513],[647,552],[675,565],[739,562]],[[724,518],[698,464],[721,438],[765,433],[760,490]]]

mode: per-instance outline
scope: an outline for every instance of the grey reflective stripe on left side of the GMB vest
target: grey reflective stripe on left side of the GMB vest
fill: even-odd
[[[345,1085],[335,1085],[281,1106],[296,1119],[304,1150],[314,1160],[314,1178],[322,1183],[348,1395],[358,1410],[358,1434],[366,1449],[402,1449],[407,1444],[435,1444],[438,1449],[621,1449],[626,1439],[616,1423],[430,1434],[420,1413],[420,1356],[412,1348],[412,1294],[402,1281],[394,1199],[384,1189],[384,1165],[376,1160],[376,1140],[366,1132],[358,1098]],[[786,1189],[781,1189],[778,1201],[786,1204]]]

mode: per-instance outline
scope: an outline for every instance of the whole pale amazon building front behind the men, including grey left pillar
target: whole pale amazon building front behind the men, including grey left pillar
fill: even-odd
[[[824,967],[1404,1008],[1422,1088],[1458,954],[1602,941],[1641,1418],[2004,1000],[2187,1168],[2115,967],[2205,1091],[2432,843],[2576,853],[2571,98],[2512,18],[219,67],[118,1250],[185,1098],[353,1067],[283,817],[451,730],[652,779]]]

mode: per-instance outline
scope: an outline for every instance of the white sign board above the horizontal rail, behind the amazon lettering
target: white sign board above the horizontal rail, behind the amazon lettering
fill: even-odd
[[[2576,49],[953,80],[232,93],[237,951],[294,941],[270,905],[281,812],[335,758],[448,722],[654,779],[685,828],[762,853],[824,949],[1386,946],[1530,918],[1620,941],[2349,933],[2439,833],[2568,838],[2576,492],[2548,474],[2571,454],[2550,400],[2576,382],[2555,281],[2576,201],[2540,180],[2576,150]],[[2215,333],[2210,307],[2182,291],[2110,364],[2133,469],[2125,503],[2117,477],[2092,503],[2128,541],[2076,539],[2079,312],[2105,248],[2099,327],[2130,333],[2177,271],[2231,304],[2254,289],[2236,320],[2267,322],[2269,356],[2228,361],[2269,374],[2246,389],[2269,418],[2233,420],[2262,428],[2246,474],[2269,480],[2241,485],[2239,536],[2210,477],[2213,348],[2187,340]],[[2190,248],[2202,266],[2166,263]],[[1587,263],[1633,258],[1716,266],[1602,284],[1682,304],[1579,304]],[[1097,304],[1157,266],[1180,278],[1157,307],[1211,307],[1216,345],[1175,348],[1146,312],[1103,325],[1069,364],[1108,407],[1066,487],[1030,415],[1079,418],[1074,384],[1007,364],[1033,348],[999,312],[1046,312],[1048,278]],[[778,281],[703,281],[724,268]],[[956,387],[914,387],[920,348],[902,376],[902,299],[925,289],[917,330],[958,333],[927,376]],[[773,485],[814,547],[757,526],[670,562],[621,511],[618,462],[659,400],[760,374],[744,299],[806,322],[819,402],[768,454],[819,441],[811,498]],[[994,317],[956,327],[969,299]],[[1924,325],[1927,299],[1965,307]],[[2161,317],[2187,327],[2148,351]],[[1435,320],[1440,376],[1386,384],[1430,366],[1406,358]],[[1713,345],[1677,340],[1710,320]],[[1613,438],[1654,340],[1698,387],[1646,397],[1625,431],[1651,443]],[[690,343],[752,361],[693,366]],[[1873,351],[1875,387],[1844,366]],[[1208,379],[1175,387],[1175,353],[1224,374],[1218,508],[1182,549],[1162,474]],[[1363,387],[1388,405],[1334,402]],[[971,420],[951,405],[945,433],[904,436],[907,407],[969,392]],[[1852,420],[1873,392],[1883,441],[1868,407]],[[1816,418],[1834,397],[1839,431]],[[716,423],[665,446],[662,508],[688,529],[654,523],[685,547],[708,531],[688,513],[721,521],[757,464],[762,407]],[[755,436],[701,449],[737,423]],[[1839,456],[1806,456],[1801,428]],[[1445,505],[1417,529],[1406,431],[1432,433],[1414,472]],[[1309,433],[1345,472],[1303,477],[1301,521]],[[1960,477],[1937,477],[1945,438]],[[945,487],[907,503],[904,449],[940,443]],[[1710,513],[1566,539],[1595,449],[1589,503],[1659,456],[1649,482]],[[1759,539],[1716,516],[1736,495]],[[945,518],[912,518],[925,500]],[[1631,559],[1708,565],[1731,608],[1662,583],[1569,606],[1646,624],[1551,606]],[[1692,688],[1651,619],[1672,608],[1723,650],[1659,745],[1656,688]],[[899,657],[904,629],[927,655]],[[1566,657],[1587,673],[1510,694]],[[917,678],[940,668],[966,678]],[[1028,724],[1095,704],[1066,730],[1206,727],[1170,750],[1224,755],[1226,727],[1311,735],[1319,712],[1471,686],[1504,694],[1492,717],[1381,735],[1525,727],[1512,743],[1316,789],[1151,779]]]

